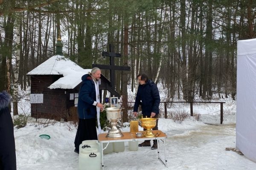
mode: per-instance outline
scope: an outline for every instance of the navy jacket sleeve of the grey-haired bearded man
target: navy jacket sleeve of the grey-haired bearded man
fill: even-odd
[[[93,105],[93,102],[94,102],[94,99],[90,97],[92,88],[93,88],[93,86],[92,86],[91,82],[86,81],[82,84],[82,86],[80,88],[80,92],[79,92],[81,99],[90,105]]]

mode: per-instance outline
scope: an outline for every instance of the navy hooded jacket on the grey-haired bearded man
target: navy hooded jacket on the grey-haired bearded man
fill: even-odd
[[[78,97],[79,119],[96,118],[96,106],[93,105],[96,101],[95,84],[89,74],[83,75],[82,81]]]

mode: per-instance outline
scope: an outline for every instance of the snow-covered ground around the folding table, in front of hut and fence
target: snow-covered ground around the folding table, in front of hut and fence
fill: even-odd
[[[17,170],[78,169],[79,156],[73,152],[76,128],[69,123],[56,122],[54,125],[43,127],[31,120],[29,122],[26,127],[15,128]],[[200,122],[189,117],[181,124],[171,119],[159,119],[159,130],[168,136],[168,168],[157,159],[157,150],[139,147],[138,151],[129,151],[128,142],[125,142],[124,152],[104,155],[104,169],[255,170],[256,162],[236,152],[225,150],[226,147],[236,147],[234,111],[224,115],[223,125],[219,125],[219,122],[218,113],[201,115]],[[122,128],[122,131],[129,131],[129,127]],[[41,134],[48,134],[51,139],[41,139]],[[164,159],[161,143],[160,155]]]

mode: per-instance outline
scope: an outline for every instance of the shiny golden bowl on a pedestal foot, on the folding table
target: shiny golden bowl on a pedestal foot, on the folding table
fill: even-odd
[[[141,118],[141,126],[146,129],[144,137],[155,137],[154,133],[152,133],[152,128],[157,125],[157,118]]]

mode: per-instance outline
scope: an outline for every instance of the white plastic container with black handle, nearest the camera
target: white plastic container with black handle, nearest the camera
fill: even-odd
[[[101,156],[97,148],[83,148],[79,153],[79,170],[100,170]]]

